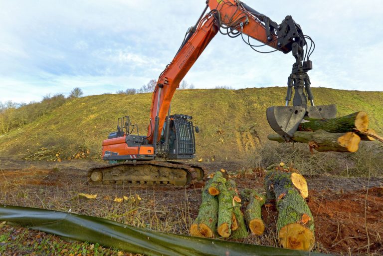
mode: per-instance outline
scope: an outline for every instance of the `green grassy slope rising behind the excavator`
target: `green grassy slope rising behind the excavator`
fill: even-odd
[[[265,110],[284,103],[286,88],[240,90],[180,90],[172,113],[193,116],[200,127],[196,135],[197,157],[233,159],[245,157],[271,132]],[[316,103],[338,105],[338,115],[364,110],[370,126],[382,133],[383,92],[313,88]],[[22,129],[0,137],[0,154],[30,159],[89,157],[99,159],[101,143],[116,129],[116,119],[129,115],[146,134],[151,94],[94,95],[66,102],[52,113]],[[33,155],[34,154],[34,155]]]

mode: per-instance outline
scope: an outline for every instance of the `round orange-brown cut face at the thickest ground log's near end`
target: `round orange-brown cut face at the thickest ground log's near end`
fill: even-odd
[[[283,248],[310,251],[314,247],[314,233],[299,223],[291,223],[279,231],[279,242]]]

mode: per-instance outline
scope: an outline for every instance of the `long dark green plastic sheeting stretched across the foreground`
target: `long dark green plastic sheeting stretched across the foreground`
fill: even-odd
[[[0,206],[0,220],[63,238],[148,256],[325,256],[156,232],[102,218],[38,208]]]

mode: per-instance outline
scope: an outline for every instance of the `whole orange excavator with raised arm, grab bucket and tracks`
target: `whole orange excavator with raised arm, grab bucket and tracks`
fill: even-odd
[[[266,111],[270,126],[286,141],[292,137],[305,116],[335,117],[335,105],[314,105],[307,71],[312,69],[310,55],[315,44],[303,34],[300,25],[291,16],[286,16],[278,24],[242,1],[207,0],[196,24],[188,29],[172,62],[158,78],[152,95],[148,134],[140,135],[138,126],[132,125],[129,116],[119,118],[117,131],[109,134],[102,144],[102,159],[114,164],[91,169],[88,173],[90,181],[103,184],[187,185],[203,179],[203,168],[169,161],[192,159],[195,156],[194,130],[198,132],[191,116],[170,115],[170,110],[172,97],[180,82],[218,32],[241,37],[257,52],[292,52],[295,62],[288,78],[286,105],[273,106]],[[253,39],[261,44],[255,45],[251,41]],[[309,49],[306,40],[311,41]],[[259,50],[259,46],[266,45],[273,49],[266,52]],[[293,104],[289,106],[293,87]]]

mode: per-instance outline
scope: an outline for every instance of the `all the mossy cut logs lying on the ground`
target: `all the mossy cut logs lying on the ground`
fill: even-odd
[[[266,195],[253,189],[238,192],[224,170],[210,176],[202,190],[198,217],[190,227],[192,236],[241,239],[260,236],[265,225],[261,207],[267,202],[278,211],[277,231],[282,247],[310,251],[314,247],[314,220],[306,203],[305,178],[283,163],[267,168]],[[224,178],[226,177],[226,178]],[[245,204],[242,207],[242,203]]]

